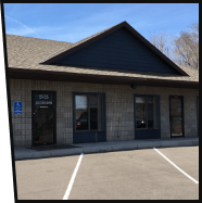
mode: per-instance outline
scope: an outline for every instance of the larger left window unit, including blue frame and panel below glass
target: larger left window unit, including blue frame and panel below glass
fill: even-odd
[[[105,141],[105,94],[73,92],[73,143]]]

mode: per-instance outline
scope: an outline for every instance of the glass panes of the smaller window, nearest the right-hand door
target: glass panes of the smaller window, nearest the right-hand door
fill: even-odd
[[[159,129],[159,98],[135,97],[136,129]]]

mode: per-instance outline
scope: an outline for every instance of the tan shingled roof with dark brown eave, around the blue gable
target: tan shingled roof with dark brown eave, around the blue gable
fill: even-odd
[[[85,81],[141,86],[199,88],[199,71],[180,66],[188,76],[173,74],[141,73],[99,67],[39,64],[62,49],[75,43],[5,35],[9,78]],[[86,39],[85,39],[86,40]],[[77,42],[79,43],[79,42]],[[62,51],[61,50],[61,51]],[[59,53],[58,52],[58,53]]]

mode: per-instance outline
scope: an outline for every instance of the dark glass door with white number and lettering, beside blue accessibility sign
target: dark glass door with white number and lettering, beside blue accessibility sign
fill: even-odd
[[[33,91],[33,145],[55,143],[55,92]]]

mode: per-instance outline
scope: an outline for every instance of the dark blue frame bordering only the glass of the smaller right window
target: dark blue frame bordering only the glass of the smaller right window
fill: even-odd
[[[159,125],[157,125],[157,128],[137,128],[136,126],[136,98],[154,98],[156,97],[157,98],[157,101],[159,101],[159,107],[157,107],[157,111],[159,111]],[[160,114],[160,96],[159,94],[134,94],[134,123],[135,123],[135,131],[136,130],[161,130],[161,114]],[[148,113],[147,113],[148,114]],[[147,119],[148,119],[148,116],[147,116]]]

